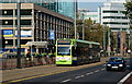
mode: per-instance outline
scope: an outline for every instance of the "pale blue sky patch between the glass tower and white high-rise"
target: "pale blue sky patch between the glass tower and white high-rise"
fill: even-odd
[[[89,9],[90,11],[97,11],[99,5],[102,5],[107,0],[78,0],[79,9]]]

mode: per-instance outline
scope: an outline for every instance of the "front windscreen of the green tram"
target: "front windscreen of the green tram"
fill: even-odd
[[[58,47],[57,55],[58,56],[70,56],[70,47]]]

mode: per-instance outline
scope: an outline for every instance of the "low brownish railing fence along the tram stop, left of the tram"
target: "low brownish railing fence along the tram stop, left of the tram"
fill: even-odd
[[[16,53],[0,53],[0,69],[16,69],[18,58]],[[35,67],[35,65],[45,65],[54,64],[55,57],[32,57],[26,58],[24,55],[21,56],[21,68]]]

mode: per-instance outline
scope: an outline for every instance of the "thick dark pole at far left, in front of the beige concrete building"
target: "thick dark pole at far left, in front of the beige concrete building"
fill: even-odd
[[[16,57],[18,57],[18,64],[16,68],[21,69],[21,14],[20,14],[20,10],[21,10],[21,2],[20,0],[18,0],[18,50],[16,50]]]

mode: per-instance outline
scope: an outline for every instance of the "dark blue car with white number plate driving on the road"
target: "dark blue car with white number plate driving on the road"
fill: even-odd
[[[109,61],[106,61],[107,71],[110,70],[121,70],[125,71],[125,60],[121,57],[111,57]]]

